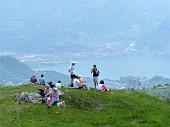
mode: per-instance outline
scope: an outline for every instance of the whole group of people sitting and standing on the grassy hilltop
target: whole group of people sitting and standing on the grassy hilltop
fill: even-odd
[[[75,66],[76,62],[72,62],[71,66],[68,69],[70,73],[71,82],[67,88],[87,90],[88,88],[86,86],[86,81],[82,76],[76,75]],[[91,73],[93,75],[93,82],[96,90],[112,93],[112,91],[105,85],[103,80],[101,80],[100,82],[98,81],[100,71],[96,65],[93,65]],[[51,106],[55,103],[57,104],[57,106],[65,105],[64,101],[59,102],[60,97],[64,94],[59,90],[59,88],[66,87],[61,83],[60,80],[56,84],[53,84],[53,82],[51,81],[46,82],[44,75],[42,74],[39,79],[37,79],[37,77],[33,75],[30,78],[30,82],[32,85],[46,85],[46,88],[44,90],[39,90],[39,94],[43,97],[43,102],[47,104],[48,108],[51,108]]]

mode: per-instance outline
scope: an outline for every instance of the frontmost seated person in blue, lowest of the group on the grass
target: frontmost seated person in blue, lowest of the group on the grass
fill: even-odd
[[[48,108],[51,108],[51,106],[57,102],[59,102],[59,93],[58,93],[58,90],[57,88],[53,88],[53,94],[52,94],[52,97],[51,97],[51,100],[48,101]]]

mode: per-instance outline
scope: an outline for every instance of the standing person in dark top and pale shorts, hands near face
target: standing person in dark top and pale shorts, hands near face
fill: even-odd
[[[100,71],[98,70],[96,65],[93,65],[93,68],[91,69],[91,73],[93,73],[93,82],[96,88],[96,86],[98,85],[98,77],[100,74]]]

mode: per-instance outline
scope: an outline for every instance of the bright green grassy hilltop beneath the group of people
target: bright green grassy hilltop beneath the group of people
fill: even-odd
[[[0,88],[0,127],[169,127],[170,105],[138,93],[65,89],[65,108],[21,104],[13,95],[40,86]]]

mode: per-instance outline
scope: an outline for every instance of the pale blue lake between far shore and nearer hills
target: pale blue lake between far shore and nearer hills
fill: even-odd
[[[91,77],[93,64],[100,69],[100,78],[119,79],[120,76],[136,75],[153,77],[160,75],[170,78],[170,55],[114,56],[77,61],[76,73]],[[68,73],[70,64],[39,67],[36,70],[53,70]]]

